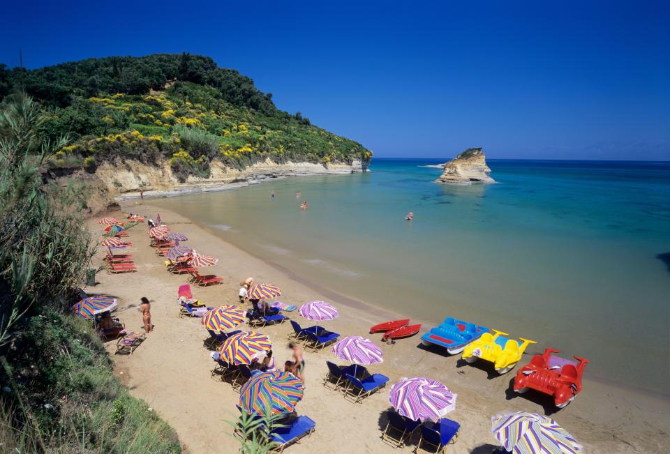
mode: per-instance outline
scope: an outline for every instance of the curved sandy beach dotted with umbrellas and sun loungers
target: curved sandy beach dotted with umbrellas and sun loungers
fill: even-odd
[[[459,356],[447,356],[439,351],[417,347],[419,335],[399,340],[395,345],[380,342],[380,335],[367,335],[371,325],[381,321],[401,318],[397,314],[366,305],[360,301],[343,298],[317,285],[293,275],[278,264],[268,264],[249,255],[234,245],[200,227],[192,220],[177,213],[151,206],[150,202],[121,202],[121,209],[140,213],[160,211],[161,219],[172,232],[188,236],[184,243],[199,252],[219,259],[207,273],[216,273],[223,285],[197,287],[193,294],[207,305],[237,303],[240,280],[253,276],[256,282],[271,282],[281,287],[281,301],[298,307],[307,301],[329,301],[338,308],[340,317],[325,322],[332,331],[346,335],[364,335],[380,345],[384,362],[368,367],[389,377],[389,385],[402,377],[426,376],[442,381],[458,394],[456,410],[449,418],[461,423],[461,434],[453,453],[490,453],[495,446],[491,435],[491,416],[507,409],[533,411],[551,415],[583,444],[590,453],[654,453],[670,446],[670,400],[667,396],[631,391],[613,384],[588,379],[584,390],[572,404],[556,412],[549,399],[539,395],[516,395],[511,391],[514,372],[499,377],[495,372],[479,365],[465,365]],[[125,218],[121,211],[108,215]],[[100,216],[98,216],[100,217]],[[91,232],[96,236],[101,226],[96,219],[89,220]],[[114,342],[107,349],[116,363],[116,373],[131,389],[131,393],[148,402],[149,406],[165,418],[179,434],[179,439],[190,453],[234,453],[239,443],[232,439],[232,428],[224,421],[237,417],[239,394],[230,384],[211,377],[214,363],[203,346],[208,335],[200,319],[179,318],[177,287],[186,283],[184,275],[166,271],[163,257],[158,257],[149,246],[146,225],[137,225],[129,231],[133,246],[128,252],[135,258],[137,273],[111,275],[98,273],[98,284],[85,290],[89,293],[111,294],[118,298],[117,316],[128,330],[140,330],[141,315],[135,306],[140,297],[147,296],[151,303],[155,331],[132,356],[114,356]],[[101,248],[94,266],[102,263],[105,250]],[[409,312],[409,311],[408,311]],[[297,311],[288,312],[292,319],[304,323]],[[446,315],[445,315],[446,316]],[[422,332],[430,325],[424,324]],[[290,324],[258,328],[274,343],[278,364],[290,358],[287,336]],[[329,348],[320,353],[305,352],[306,391],[298,404],[298,414],[316,422],[316,431],[287,449],[290,453],[381,453],[393,448],[380,439],[389,408],[388,387],[362,404],[345,400],[342,393],[322,386],[327,374],[325,361],[338,361]],[[521,364],[530,356],[526,355]],[[398,449],[409,453],[414,444]]]

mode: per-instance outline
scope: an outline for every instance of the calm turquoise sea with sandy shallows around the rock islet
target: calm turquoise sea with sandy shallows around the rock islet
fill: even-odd
[[[498,183],[472,186],[431,183],[440,169],[422,166],[438,162],[156,202],[335,292],[475,321],[670,393],[670,162],[489,160]]]

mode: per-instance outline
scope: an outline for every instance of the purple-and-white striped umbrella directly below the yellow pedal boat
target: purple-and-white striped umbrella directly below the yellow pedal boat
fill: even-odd
[[[389,391],[389,403],[413,421],[438,421],[456,408],[456,394],[426,377],[404,378]]]

